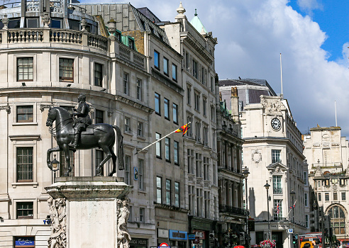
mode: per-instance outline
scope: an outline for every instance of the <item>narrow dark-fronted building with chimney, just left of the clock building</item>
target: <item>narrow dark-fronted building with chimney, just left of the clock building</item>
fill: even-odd
[[[221,96],[221,93],[220,93]],[[220,99],[221,100],[221,99]],[[218,152],[218,242],[221,246],[247,245],[246,210],[243,199],[245,178],[242,168],[241,123],[238,111],[238,90],[231,87],[231,106],[220,101],[217,116]],[[245,205],[245,206],[244,206]]]

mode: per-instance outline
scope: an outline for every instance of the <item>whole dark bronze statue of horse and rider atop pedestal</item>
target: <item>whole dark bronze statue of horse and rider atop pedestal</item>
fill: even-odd
[[[70,165],[70,150],[89,150],[92,148],[101,148],[106,157],[96,167],[96,175],[101,176],[103,165],[111,158],[113,160],[113,170],[109,174],[112,176],[116,172],[116,155],[113,152],[113,145],[117,141],[118,147],[118,169],[124,169],[123,164],[123,135],[121,130],[116,125],[109,124],[94,124],[89,117],[89,105],[86,103],[86,96],[80,94],[79,106],[74,109],[71,115],[65,108],[54,107],[48,111],[48,120],[46,125],[55,133],[57,147],[48,150],[48,167],[52,170],[52,162],[50,155],[52,152],[65,152],[65,162],[67,171],[65,176],[69,176],[72,171]],[[55,128],[52,128],[52,123],[55,123]],[[115,132],[116,131],[116,135]]]

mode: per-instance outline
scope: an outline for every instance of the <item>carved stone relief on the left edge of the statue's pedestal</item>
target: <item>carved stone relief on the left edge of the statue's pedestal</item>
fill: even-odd
[[[65,211],[65,198],[48,198],[48,208],[51,218],[51,234],[48,239],[48,248],[67,247],[67,215]]]

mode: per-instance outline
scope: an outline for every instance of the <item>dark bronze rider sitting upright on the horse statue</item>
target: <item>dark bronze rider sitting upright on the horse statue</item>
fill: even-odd
[[[77,116],[77,120],[74,122],[74,141],[72,142],[74,149],[77,148],[77,142],[79,141],[81,132],[86,130],[87,125],[92,124],[92,120],[89,117],[89,105],[86,103],[85,94],[79,94],[77,100],[79,101],[79,106],[77,106],[77,109],[74,108],[73,113],[73,116]]]

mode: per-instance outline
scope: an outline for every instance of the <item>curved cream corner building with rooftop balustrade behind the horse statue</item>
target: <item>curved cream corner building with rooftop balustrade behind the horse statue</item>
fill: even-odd
[[[27,247],[47,247],[44,187],[62,176],[65,162],[64,154],[57,152],[60,171],[48,169],[46,152],[56,142],[45,122],[50,107],[76,108],[80,93],[87,96],[94,123],[121,127],[126,169],[117,176],[133,185],[132,220],[137,222],[130,229],[137,246],[155,244],[153,174],[145,172],[152,169],[152,160],[146,152],[133,156],[153,133],[154,103],[145,55],[137,51],[133,38],[118,32],[109,36],[101,18],[67,1],[22,1],[7,7],[0,10],[2,23],[7,24],[0,30],[0,60],[8,64],[1,67],[0,79],[0,142],[6,147],[1,150],[1,246],[17,247],[25,240]],[[103,158],[99,149],[75,152],[72,175],[95,176]],[[109,162],[104,175],[110,171]],[[134,230],[141,230],[139,239]]]

